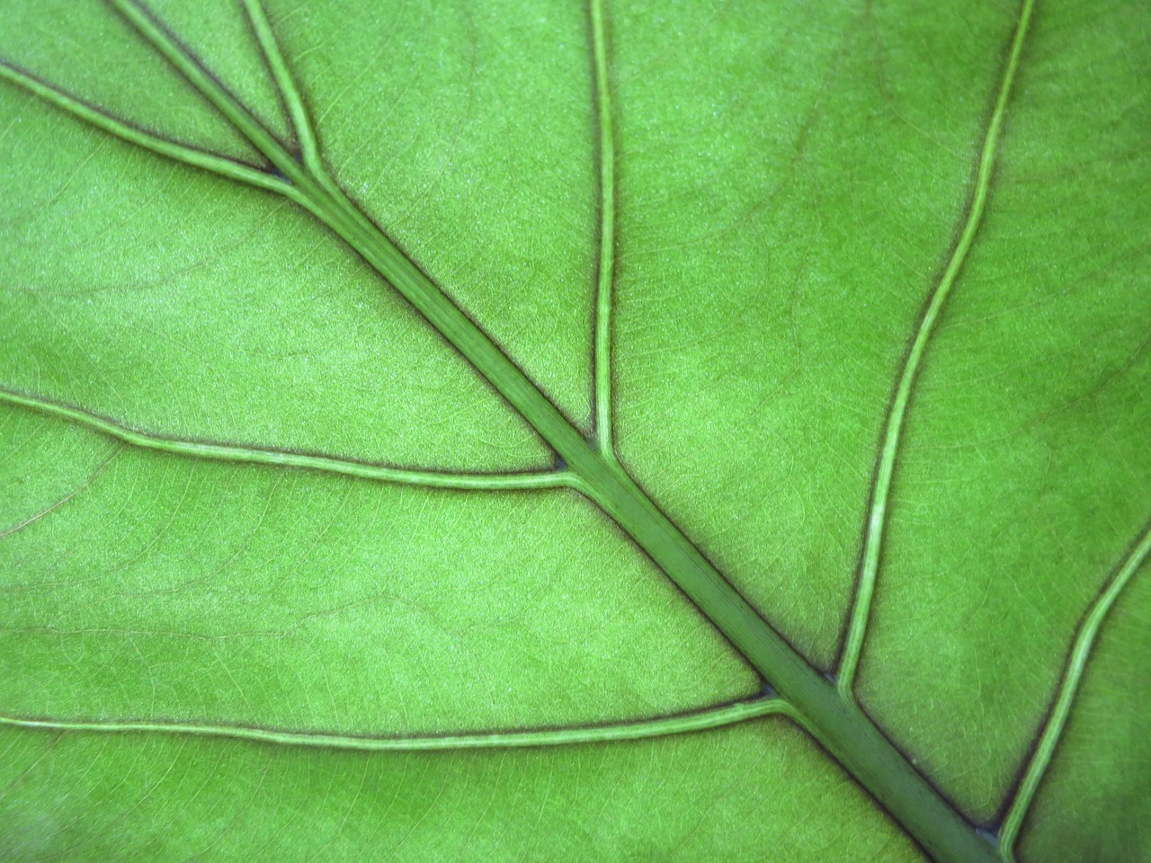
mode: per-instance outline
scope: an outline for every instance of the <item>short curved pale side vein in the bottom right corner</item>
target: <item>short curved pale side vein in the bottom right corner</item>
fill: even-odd
[[[1083,670],[1087,667],[1091,649],[1095,647],[1095,640],[1099,635],[1099,629],[1107,619],[1107,614],[1111,613],[1112,608],[1114,608],[1115,601],[1123,591],[1123,588],[1130,583],[1131,576],[1149,556],[1151,556],[1151,525],[1148,525],[1130,553],[1120,564],[1115,574],[1112,575],[1103,591],[1091,604],[1091,609],[1088,611],[1087,617],[1083,618],[1083,623],[1075,634],[1070,657],[1067,659],[1067,669],[1064,671],[1064,680],[1059,686],[1059,695],[1055,697],[1055,705],[1051,710],[1051,717],[1047,719],[1043,734],[1039,736],[1039,743],[1031,756],[1031,763],[1027,766],[1023,780],[1020,782],[1019,791],[1015,794],[1015,800],[1012,801],[1011,809],[1007,810],[1003,827],[999,831],[1000,848],[1006,860],[1011,863],[1014,863],[1015,860],[1014,846],[1015,840],[1019,838],[1020,827],[1023,825],[1023,819],[1027,817],[1031,801],[1035,799],[1035,793],[1038,791],[1041,782],[1043,782],[1043,777],[1067,727],[1067,719],[1075,702],[1075,694],[1078,692],[1080,683],[1083,680]]]

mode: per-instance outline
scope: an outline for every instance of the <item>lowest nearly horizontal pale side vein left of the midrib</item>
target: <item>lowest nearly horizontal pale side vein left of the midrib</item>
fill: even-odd
[[[165,721],[82,721],[66,719],[24,719],[0,716],[0,725],[55,732],[153,733],[233,738],[282,746],[306,746],[359,751],[418,753],[443,749],[512,749],[524,747],[608,743],[622,740],[645,740],[674,734],[722,728],[750,719],[780,715],[791,717],[792,707],[783,698],[756,698],[709,708],[695,713],[660,717],[615,725],[586,725],[538,731],[510,731],[479,734],[444,734],[436,736],[384,738],[348,734],[321,734],[304,731],[253,728],[244,725],[198,725]]]

